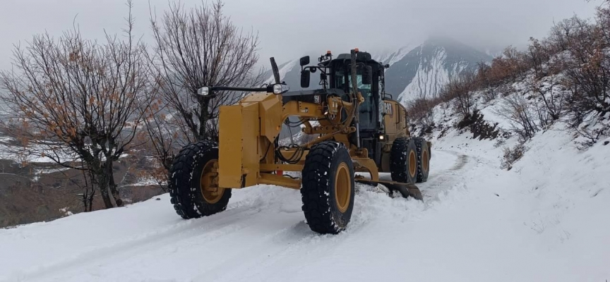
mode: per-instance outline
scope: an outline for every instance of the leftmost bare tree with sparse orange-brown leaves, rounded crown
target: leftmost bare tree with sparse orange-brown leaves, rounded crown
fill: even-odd
[[[112,198],[123,205],[113,164],[138,145],[150,92],[132,7],[128,1],[125,39],[107,34],[100,44],[83,39],[78,27],[59,39],[35,35],[15,47],[13,70],[0,75],[13,134],[28,141],[30,154],[90,173],[106,208],[114,207]]]

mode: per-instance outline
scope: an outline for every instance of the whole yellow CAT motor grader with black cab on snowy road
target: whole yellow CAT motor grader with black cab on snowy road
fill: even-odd
[[[217,145],[195,142],[175,158],[169,192],[180,216],[224,211],[233,189],[277,185],[301,191],[311,230],[339,233],[352,216],[355,182],[385,185],[421,200],[414,183],[428,178],[431,143],[410,136],[407,110],[385,93],[388,65],[358,49],[335,59],[328,51],[316,66],[308,66],[309,56],[304,56],[301,88],[309,87],[316,72],[321,88],[290,92],[280,82],[275,60],[270,61],[273,84],[198,90],[207,97],[221,91],[252,93],[220,107]],[[289,144],[280,142],[282,126],[298,128],[311,141],[295,142],[291,132]],[[380,172],[391,173],[392,180],[381,180]]]

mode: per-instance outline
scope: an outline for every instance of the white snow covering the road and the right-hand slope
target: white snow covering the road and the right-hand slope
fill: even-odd
[[[269,185],[202,219],[162,195],[3,229],[0,281],[606,281],[610,145],[579,151],[561,126],[510,171],[502,149],[516,137],[435,133],[424,201],[357,185],[339,235],[310,231],[299,191]]]

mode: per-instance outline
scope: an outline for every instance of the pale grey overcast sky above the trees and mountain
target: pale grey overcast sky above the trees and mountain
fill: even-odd
[[[148,0],[134,0],[136,32],[148,35]],[[182,1],[186,6],[201,1]],[[261,63],[301,54],[395,49],[428,35],[446,35],[479,49],[521,45],[544,37],[554,20],[594,15],[600,0],[225,0],[225,13],[246,30],[258,31]],[[47,30],[52,35],[76,22],[83,35],[120,32],[123,0],[0,0],[0,68],[11,62],[13,44]],[[150,0],[157,13],[167,0]],[[77,16],[78,15],[78,16]],[[147,37],[144,37],[147,38]]]

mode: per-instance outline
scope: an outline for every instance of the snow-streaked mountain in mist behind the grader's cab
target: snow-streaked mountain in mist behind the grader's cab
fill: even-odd
[[[431,97],[451,78],[465,70],[474,70],[477,63],[489,62],[492,57],[461,42],[445,37],[431,37],[419,44],[409,44],[395,51],[370,51],[373,59],[388,63],[385,71],[385,90],[406,104],[417,97]],[[338,52],[337,54],[338,55]],[[314,63],[320,54],[309,54]],[[278,66],[280,77],[291,90],[300,90],[299,59]],[[316,88],[316,74],[309,89]],[[268,82],[273,75],[268,71]]]

